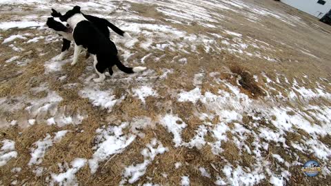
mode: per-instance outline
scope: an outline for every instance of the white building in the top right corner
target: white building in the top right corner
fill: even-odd
[[[331,10],[331,0],[281,0],[283,3],[288,4],[314,17],[321,19],[326,13]]]

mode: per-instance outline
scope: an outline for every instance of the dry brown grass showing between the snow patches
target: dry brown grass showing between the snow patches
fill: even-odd
[[[1,8],[1,7],[0,7]],[[145,6],[142,4],[134,3],[132,4],[132,10],[139,12],[141,16],[151,17],[156,22],[165,21],[162,14],[155,10],[155,6]],[[27,9],[29,10],[29,8]],[[148,11],[146,11],[148,10]],[[2,15],[2,14],[1,14]],[[1,17],[1,21],[6,21],[10,19],[11,14],[6,14]],[[239,22],[243,22],[241,17],[229,13],[229,16],[236,17]],[[234,30],[241,30],[245,35],[261,39],[262,41],[268,40],[270,34],[279,34],[277,38],[283,37],[284,40],[293,41],[295,37],[285,36],[276,31],[275,33],[266,33],[265,31],[259,30],[259,28],[253,28],[253,26],[248,26],[245,28],[244,25],[233,25],[233,23],[224,22],[221,25],[225,28],[233,28]],[[266,25],[272,28],[272,22],[265,23]],[[210,29],[204,28],[199,24],[193,24],[191,26],[179,25],[175,23],[169,23],[174,28],[179,30],[185,30],[185,32],[197,34],[199,32],[210,32],[218,33],[219,29]],[[247,23],[245,24],[247,25]],[[325,28],[327,29],[327,28]],[[306,30],[306,29],[303,29]],[[31,29],[23,30],[9,30],[7,32],[1,31],[0,34],[3,38],[9,37],[12,34],[21,34],[25,32],[32,32],[37,34],[39,31]],[[255,34],[256,32],[256,34]],[[283,32],[283,31],[282,31]],[[284,31],[285,32],[285,31]],[[254,34],[252,34],[254,33]],[[43,33],[45,34],[45,33]],[[232,39],[232,36],[227,36],[229,39]],[[30,37],[28,37],[30,39]],[[143,41],[144,38],[139,37],[139,41]],[[295,42],[301,43],[299,39],[294,39]],[[303,40],[303,39],[302,39]],[[221,45],[221,40],[215,40],[219,45]],[[277,48],[283,50],[277,52],[271,52],[274,56],[279,56],[279,59],[282,61],[281,65],[272,64],[266,62],[262,59],[239,59],[237,56],[230,54],[228,52],[221,52],[221,54],[214,54],[213,52],[205,52],[203,46],[198,46],[197,51],[199,54],[185,54],[184,52],[172,52],[170,50],[159,51],[155,50],[153,56],[162,56],[166,54],[159,61],[154,61],[154,58],[146,60],[146,66],[149,69],[154,70],[157,75],[162,74],[162,69],[172,69],[173,73],[168,75],[168,78],[165,80],[156,79],[153,82],[155,87],[157,87],[157,92],[159,97],[148,97],[146,98],[146,104],[141,103],[137,97],[126,96],[121,104],[115,105],[112,109],[112,112],[108,113],[107,110],[101,110],[99,107],[93,107],[90,104],[88,99],[83,99],[79,96],[79,91],[83,87],[83,83],[79,79],[82,74],[86,74],[86,67],[92,64],[92,59],[85,60],[83,56],[79,61],[79,65],[71,67],[66,64],[63,65],[63,74],[68,75],[68,78],[65,81],[59,81],[59,74],[44,74],[44,62],[51,59],[53,56],[59,54],[60,42],[52,43],[51,48],[42,48],[40,49],[39,43],[23,43],[23,41],[17,41],[16,45],[21,46],[25,49],[21,55],[21,59],[32,59],[28,65],[19,67],[15,64],[5,65],[6,60],[10,59],[12,56],[12,49],[8,48],[6,45],[0,45],[0,50],[3,51],[3,55],[0,56],[0,65],[2,73],[0,74],[0,97],[6,96],[31,96],[35,98],[43,98],[47,96],[47,92],[39,92],[38,94],[32,94],[30,92],[31,87],[39,87],[41,83],[48,83],[50,90],[57,92],[59,96],[63,98],[63,101],[59,103],[58,107],[63,108],[66,106],[66,110],[70,113],[78,112],[83,110],[84,114],[88,115],[88,118],[83,120],[81,125],[67,125],[65,127],[57,127],[54,125],[45,125],[44,123],[38,123],[37,125],[32,125],[27,128],[19,128],[17,126],[12,126],[8,128],[0,129],[0,141],[4,138],[10,139],[16,142],[15,148],[19,154],[18,158],[15,158],[8,162],[7,165],[1,167],[0,177],[2,178],[3,185],[10,185],[11,180],[17,178],[20,184],[26,183],[26,185],[47,185],[45,182],[46,177],[50,176],[47,172],[59,173],[58,163],[70,163],[74,158],[86,158],[89,159],[92,157],[94,151],[92,147],[95,145],[94,136],[96,135],[95,130],[103,125],[119,125],[121,122],[132,122],[133,118],[139,117],[149,117],[152,119],[152,125],[141,132],[146,134],[144,138],[137,138],[122,154],[117,154],[116,156],[110,158],[108,161],[100,163],[97,173],[94,175],[90,174],[90,168],[88,165],[83,167],[77,174],[77,180],[79,185],[117,185],[122,178],[123,169],[128,165],[141,163],[143,162],[143,156],[141,155],[141,149],[146,147],[146,144],[150,143],[152,138],[157,138],[163,146],[169,148],[169,152],[157,156],[152,164],[148,166],[146,174],[141,177],[137,182],[146,183],[149,181],[148,177],[153,178],[154,183],[159,183],[161,185],[178,185],[181,180],[181,176],[190,176],[191,185],[214,185],[215,178],[217,175],[223,175],[221,171],[228,162],[232,165],[243,165],[245,167],[252,167],[252,163],[256,160],[254,156],[248,154],[244,150],[238,149],[237,145],[233,141],[227,141],[221,144],[221,147],[224,151],[220,155],[215,155],[212,153],[212,149],[209,145],[205,145],[202,149],[196,148],[187,148],[179,147],[174,148],[174,143],[172,141],[172,134],[168,133],[163,127],[157,123],[159,116],[164,115],[165,113],[174,113],[177,114],[183,121],[188,125],[185,130],[183,130],[182,137],[183,141],[188,142],[194,135],[197,127],[202,124],[197,116],[194,116],[195,112],[206,113],[207,110],[201,102],[198,101],[197,104],[193,103],[178,103],[174,101],[177,99],[174,95],[179,93],[181,90],[190,91],[194,89],[192,79],[194,74],[205,73],[205,79],[201,84],[201,93],[212,92],[217,94],[218,90],[227,90],[222,85],[217,85],[214,82],[214,78],[209,76],[210,72],[219,72],[215,77],[226,80],[232,85],[237,85],[237,79],[241,85],[241,92],[247,94],[251,98],[258,99],[265,96],[265,92],[261,90],[261,87],[264,86],[263,81],[258,83],[254,81],[252,74],[261,74],[265,72],[268,74],[270,79],[274,81],[278,72],[279,74],[285,74],[290,81],[297,76],[302,76],[302,74],[308,74],[311,78],[311,81],[319,81],[319,76],[327,76],[330,79],[330,67],[325,65],[319,65],[321,61],[311,61],[308,60],[306,56],[302,56],[300,52],[292,50],[288,47],[280,45],[275,41],[268,40],[268,43],[277,46]],[[294,43],[294,41],[293,41]],[[304,43],[301,43],[302,45]],[[138,45],[138,43],[136,44]],[[291,45],[289,43],[289,45]],[[123,45],[122,45],[123,47]],[[250,48],[250,50],[257,50]],[[312,47],[312,50],[316,50]],[[72,50],[70,50],[72,52]],[[39,56],[41,52],[47,52],[44,56]],[[130,64],[137,63],[137,59],[146,56],[151,51],[145,51],[141,48],[133,48],[132,53],[137,52],[129,58]],[[262,50],[261,50],[262,52]],[[175,56],[178,58],[188,59],[187,64],[180,64],[177,62],[171,63],[172,59]],[[321,54],[324,56],[324,54]],[[288,62],[289,59],[301,61],[300,68],[297,68],[297,63]],[[328,59],[328,56],[325,57]],[[132,62],[132,63],[131,63]],[[328,63],[326,63],[328,64]],[[115,72],[119,73],[119,72]],[[319,76],[317,76],[319,74]],[[259,76],[261,78],[261,76]],[[283,81],[283,79],[282,79]],[[63,88],[63,85],[68,83],[79,83],[74,89]],[[133,84],[133,83],[132,83]],[[134,85],[114,85],[114,95],[117,99],[122,95],[128,94]],[[321,82],[322,85],[328,85],[328,82]],[[101,85],[101,89],[108,90],[110,84]],[[277,91],[282,92],[286,95],[284,91],[288,86],[283,84],[283,87],[277,87]],[[308,87],[313,87],[313,83],[308,83]],[[265,87],[263,87],[265,88]],[[171,92],[173,90],[174,92]],[[330,91],[330,89],[328,89]],[[277,94],[277,92],[271,93],[272,95]],[[293,104],[296,107],[302,105],[302,103],[289,103]],[[1,113],[6,115],[8,121],[11,118],[23,117],[26,116],[26,111],[19,110],[17,113]],[[288,113],[291,114],[291,113]],[[10,116],[9,116],[10,115]],[[257,116],[259,114],[257,113]],[[262,118],[260,121],[257,121],[261,127],[268,127],[271,130],[277,131],[277,128],[270,123],[274,119],[271,118]],[[221,121],[219,117],[214,117],[210,123],[213,125],[219,124]],[[252,116],[243,116],[243,125],[248,129],[252,127]],[[233,127],[233,124],[230,124],[229,127]],[[70,130],[66,136],[63,137],[61,143],[54,143],[50,149],[47,150],[46,156],[43,158],[43,163],[40,166],[47,167],[47,172],[41,177],[34,176],[32,174],[32,169],[35,167],[27,166],[28,161],[30,160],[30,147],[35,141],[45,138],[46,134],[51,134],[54,136],[54,132],[59,130]],[[252,129],[254,132],[258,132],[258,128],[254,127]],[[81,132],[83,131],[83,132]],[[128,134],[129,128],[125,130],[125,134]],[[229,139],[232,138],[233,134],[230,132],[227,133]],[[297,130],[297,133],[289,132],[286,134],[287,141],[301,141],[303,136],[309,137],[309,134],[303,132],[303,130]],[[212,134],[208,133],[205,136],[205,141],[213,143],[215,141]],[[254,139],[252,136],[248,136],[247,144],[252,143]],[[320,138],[320,141],[326,145],[331,146],[330,135]],[[252,150],[252,147],[251,147]],[[297,152],[295,149],[291,149],[292,152]],[[241,152],[241,153],[240,153]],[[272,154],[281,155],[285,161],[296,161],[292,158],[292,154],[288,154],[288,151],[281,147],[277,147],[276,144],[270,143],[270,149],[268,152],[262,152],[263,157],[268,158],[272,162],[272,171],[279,172],[277,169],[279,164],[274,161],[271,157]],[[314,159],[313,154],[303,154],[298,152],[298,156],[301,161],[307,161]],[[179,169],[174,169],[174,163],[182,163],[182,167]],[[10,170],[12,167],[21,167],[22,171],[19,173],[12,173]],[[212,179],[205,178],[201,176],[199,172],[199,167],[205,167],[208,172],[211,174]],[[215,169],[216,167],[216,169]],[[301,172],[301,167],[294,166],[290,167],[290,173],[292,174],[290,180],[287,182],[288,185],[331,185],[330,176],[327,178],[306,178]],[[161,174],[168,174],[168,177],[165,178]],[[268,180],[265,180],[261,185],[270,185]]]

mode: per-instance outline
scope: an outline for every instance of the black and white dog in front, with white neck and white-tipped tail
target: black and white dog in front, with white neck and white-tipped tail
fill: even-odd
[[[109,37],[99,30],[97,25],[88,21],[86,17],[81,14],[81,8],[75,6],[72,10],[60,17],[61,21],[66,21],[70,28],[73,29],[74,37],[74,60],[71,65],[75,65],[78,61],[78,56],[83,48],[86,48],[94,57],[94,68],[98,79],[93,79],[95,82],[101,82],[106,78],[105,70],[108,68],[110,75],[112,75],[112,66],[117,65],[119,70],[132,74],[134,72],[141,72],[146,70],[145,67],[128,68],[119,61],[117,56],[116,45],[110,41]]]

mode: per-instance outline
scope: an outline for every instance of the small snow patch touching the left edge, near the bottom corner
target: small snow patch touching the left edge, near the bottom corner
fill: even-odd
[[[15,151],[15,142],[11,140],[1,141],[2,147],[0,149],[0,167],[6,165],[12,158],[17,158],[17,152]]]

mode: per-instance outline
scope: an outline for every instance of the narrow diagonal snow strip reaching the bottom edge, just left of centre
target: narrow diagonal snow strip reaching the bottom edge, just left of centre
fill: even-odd
[[[123,180],[121,183],[135,183],[146,173],[148,165],[154,161],[154,158],[158,154],[164,154],[165,152],[168,152],[168,148],[163,147],[161,142],[157,141],[156,138],[153,138],[152,141],[146,145],[146,148],[141,151],[144,158],[143,163],[126,167],[123,172]]]

